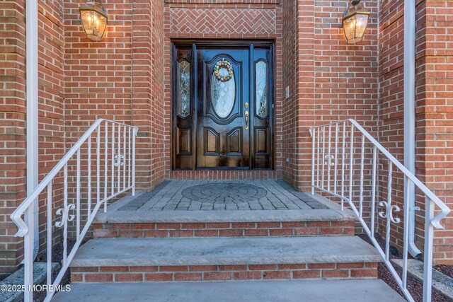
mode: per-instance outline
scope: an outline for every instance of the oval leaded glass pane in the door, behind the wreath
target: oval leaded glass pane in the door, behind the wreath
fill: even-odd
[[[226,69],[219,69],[220,76],[227,76]],[[236,83],[234,73],[229,81],[219,81],[212,72],[211,78],[211,101],[215,113],[221,117],[228,117],[234,108],[234,98],[236,95]]]

